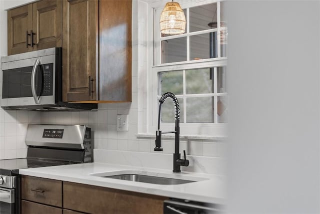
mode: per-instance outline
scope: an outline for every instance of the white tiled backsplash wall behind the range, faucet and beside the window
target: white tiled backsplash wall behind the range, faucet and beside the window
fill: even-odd
[[[3,6],[3,1],[0,1]],[[0,8],[1,9],[1,8]],[[6,41],[6,12],[1,13],[0,36]],[[147,4],[133,1],[132,5],[132,103],[99,104],[95,112],[24,112],[0,109],[0,159],[25,157],[24,135],[28,123],[43,124],[88,124],[93,131],[94,148],[100,150],[121,150],[154,152],[154,137],[137,138],[137,133],[146,132],[147,126]],[[1,39],[1,38],[0,38]],[[1,55],[6,55],[6,42],[0,40]],[[151,86],[157,87],[157,86]],[[1,113],[2,112],[2,113]],[[116,114],[129,114],[128,131],[116,131]],[[4,115],[4,116],[1,116]],[[41,118],[41,119],[39,119]],[[7,128],[6,128],[7,127]],[[23,127],[23,128],[21,128]],[[21,129],[21,131],[20,131]],[[1,133],[3,133],[1,135]],[[155,130],[154,130],[155,133]],[[3,139],[2,139],[2,138]],[[6,138],[9,137],[9,138]],[[15,140],[16,139],[16,140]],[[174,141],[163,140],[163,152],[174,152]],[[218,140],[181,140],[180,151],[188,155],[212,158],[215,165],[224,165],[224,143]],[[23,149],[18,150],[18,149]],[[221,174],[222,170],[217,170]]]

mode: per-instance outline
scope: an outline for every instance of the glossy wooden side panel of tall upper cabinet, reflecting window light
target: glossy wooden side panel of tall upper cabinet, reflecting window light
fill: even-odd
[[[99,2],[99,100],[131,102],[131,1]]]

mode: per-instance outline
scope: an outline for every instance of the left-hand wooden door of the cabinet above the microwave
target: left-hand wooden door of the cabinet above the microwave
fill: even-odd
[[[24,53],[32,50],[30,36],[32,30],[32,4],[25,5],[7,12],[8,24],[8,55]]]

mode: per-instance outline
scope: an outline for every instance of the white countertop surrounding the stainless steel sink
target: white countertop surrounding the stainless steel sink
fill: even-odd
[[[157,176],[199,181],[177,185],[160,185],[104,178],[92,175],[93,173],[99,173],[106,176],[114,175],[119,171],[122,171],[122,173],[128,173],[132,170],[146,171],[147,175],[153,176],[156,174]],[[225,177],[206,173],[173,173],[172,170],[167,169],[154,169],[93,162],[20,169],[19,174],[208,203],[225,203]]]

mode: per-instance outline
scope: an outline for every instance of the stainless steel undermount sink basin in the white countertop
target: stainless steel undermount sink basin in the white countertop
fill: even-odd
[[[112,178],[112,179],[128,180],[128,181],[144,182],[144,183],[152,183],[152,184],[160,184],[160,185],[176,185],[176,184],[207,180],[207,178],[190,176],[188,174],[169,174],[169,173],[159,173],[159,172],[141,171],[141,170],[119,170],[119,171],[92,173],[90,175],[103,177],[103,178]]]

